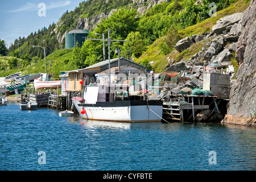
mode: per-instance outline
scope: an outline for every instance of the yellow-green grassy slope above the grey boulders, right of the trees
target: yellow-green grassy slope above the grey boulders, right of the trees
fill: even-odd
[[[167,57],[174,60],[172,63],[176,63],[181,59],[185,60],[192,57],[195,55],[195,53],[201,50],[202,43],[196,43],[191,46],[191,48],[185,49],[183,52],[179,53],[176,52],[174,48],[174,45],[178,39],[185,38],[186,36],[201,35],[204,32],[210,32],[217,20],[230,14],[245,11],[249,6],[249,3],[250,1],[238,1],[224,10],[217,11],[217,16],[212,16],[203,20],[203,22],[184,28],[183,30],[176,31],[176,34],[173,34],[174,31],[172,31],[172,33],[155,40],[154,43],[147,47],[147,50],[143,52],[142,56],[138,57],[137,59],[135,58],[134,61],[140,64],[148,64],[150,61],[155,61],[155,64],[152,65],[151,68],[156,72],[162,72],[164,69],[166,69],[168,64]],[[170,41],[174,42],[172,47],[166,46],[166,44]],[[164,49],[167,49],[167,52],[164,52]]]

